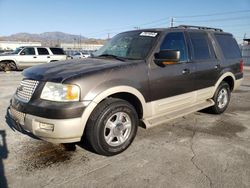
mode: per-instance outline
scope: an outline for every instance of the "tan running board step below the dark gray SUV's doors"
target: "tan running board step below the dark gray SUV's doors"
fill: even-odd
[[[163,124],[167,121],[173,120],[175,118],[185,116],[192,112],[197,112],[199,110],[208,108],[213,105],[214,105],[214,101],[212,99],[209,99],[206,101],[201,101],[199,103],[196,103],[193,106],[187,106],[180,110],[169,111],[164,114],[156,115],[150,118],[145,118],[142,121],[144,122],[144,124],[146,125],[146,128],[148,129],[148,128],[157,126],[159,124]]]

